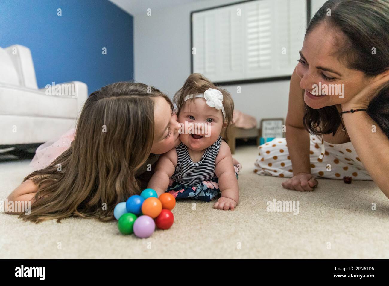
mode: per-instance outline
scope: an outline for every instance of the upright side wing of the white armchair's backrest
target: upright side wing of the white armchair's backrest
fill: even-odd
[[[9,54],[16,72],[18,72],[20,86],[38,89],[30,49],[21,45],[12,45],[6,47],[5,51]]]

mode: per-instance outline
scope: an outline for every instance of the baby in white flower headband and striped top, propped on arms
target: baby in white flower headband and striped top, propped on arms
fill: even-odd
[[[230,94],[201,74],[190,75],[173,98],[181,124],[181,144],[161,155],[148,188],[176,198],[210,201],[216,209],[233,210],[239,188],[230,147],[220,136],[232,121]],[[172,178],[172,179],[170,179]]]

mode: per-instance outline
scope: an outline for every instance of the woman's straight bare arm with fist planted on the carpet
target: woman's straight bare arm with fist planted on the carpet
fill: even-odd
[[[309,159],[309,133],[303,125],[304,89],[300,88],[300,77],[296,68],[291,77],[289,105],[286,116],[286,142],[292,161],[293,178],[282,182],[286,189],[312,191],[317,181],[313,179]]]

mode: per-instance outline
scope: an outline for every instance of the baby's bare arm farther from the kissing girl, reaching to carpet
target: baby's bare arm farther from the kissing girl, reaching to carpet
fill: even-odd
[[[224,141],[222,141],[219,154],[217,154],[216,157],[215,172],[216,176],[219,178],[219,188],[221,192],[221,197],[233,200],[236,203],[236,206],[239,201],[238,180],[235,176],[235,169],[233,165],[230,147],[228,147],[227,143]]]

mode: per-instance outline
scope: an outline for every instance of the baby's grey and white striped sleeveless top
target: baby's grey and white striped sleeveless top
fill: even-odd
[[[203,181],[211,181],[216,178],[215,160],[219,153],[222,137],[205,149],[200,161],[194,163],[189,156],[188,147],[181,143],[175,147],[177,151],[177,166],[172,179],[184,185],[192,186]]]

